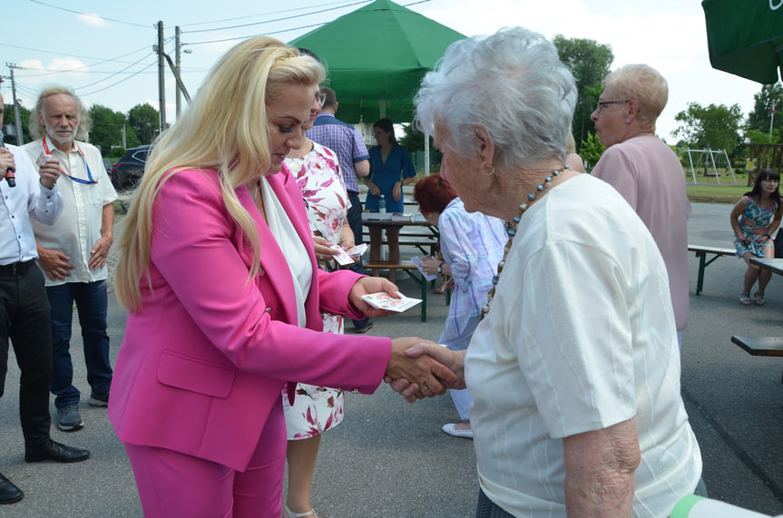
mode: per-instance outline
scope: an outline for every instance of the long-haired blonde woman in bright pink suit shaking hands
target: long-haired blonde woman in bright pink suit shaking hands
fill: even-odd
[[[369,394],[386,375],[443,394],[455,380],[404,356],[419,338],[321,333],[321,312],[381,317],[361,296],[396,290],[317,268],[282,168],[323,77],[277,40],[240,43],[147,162],[117,265],[129,315],[109,403],[147,517],[279,517],[292,381]]]

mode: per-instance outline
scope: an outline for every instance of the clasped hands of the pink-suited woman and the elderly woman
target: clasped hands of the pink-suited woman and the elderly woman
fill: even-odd
[[[448,387],[459,386],[460,379],[450,369],[433,356],[417,354],[411,356],[407,351],[411,348],[422,347],[420,350],[428,350],[426,347],[439,347],[435,342],[422,340],[416,337],[395,338],[392,340],[392,354],[389,358],[385,380],[396,380],[397,386],[405,385],[408,392],[416,387],[417,396],[403,396],[406,401],[412,403],[417,398],[432,397],[445,394]],[[448,350],[448,349],[445,349]],[[394,385],[392,386],[395,387]],[[402,394],[403,392],[397,390]]]

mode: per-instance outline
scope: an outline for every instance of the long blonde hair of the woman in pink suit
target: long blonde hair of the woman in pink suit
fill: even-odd
[[[185,169],[217,171],[226,208],[253,249],[250,277],[257,274],[258,232],[234,190],[269,170],[266,107],[286,86],[315,85],[324,75],[317,60],[273,38],[251,38],[220,58],[188,110],[152,147],[120,241],[115,288],[123,307],[142,308],[142,275],[150,282],[154,202],[171,174]]]

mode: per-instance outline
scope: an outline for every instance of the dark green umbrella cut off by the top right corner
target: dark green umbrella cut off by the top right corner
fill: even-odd
[[[777,83],[783,64],[783,0],[703,0],[712,68]]]

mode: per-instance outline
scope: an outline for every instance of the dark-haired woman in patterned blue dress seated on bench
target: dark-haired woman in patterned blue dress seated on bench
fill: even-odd
[[[764,289],[772,277],[772,272],[750,264],[750,258],[774,258],[775,242],[772,234],[780,225],[783,206],[780,203],[778,183],[780,174],[774,169],[759,172],[753,191],[746,192],[731,210],[731,228],[734,230],[734,244],[737,257],[745,259],[748,269],[739,304],[750,305],[750,289],[759,281],[759,291],[753,295],[753,303],[764,306]]]

